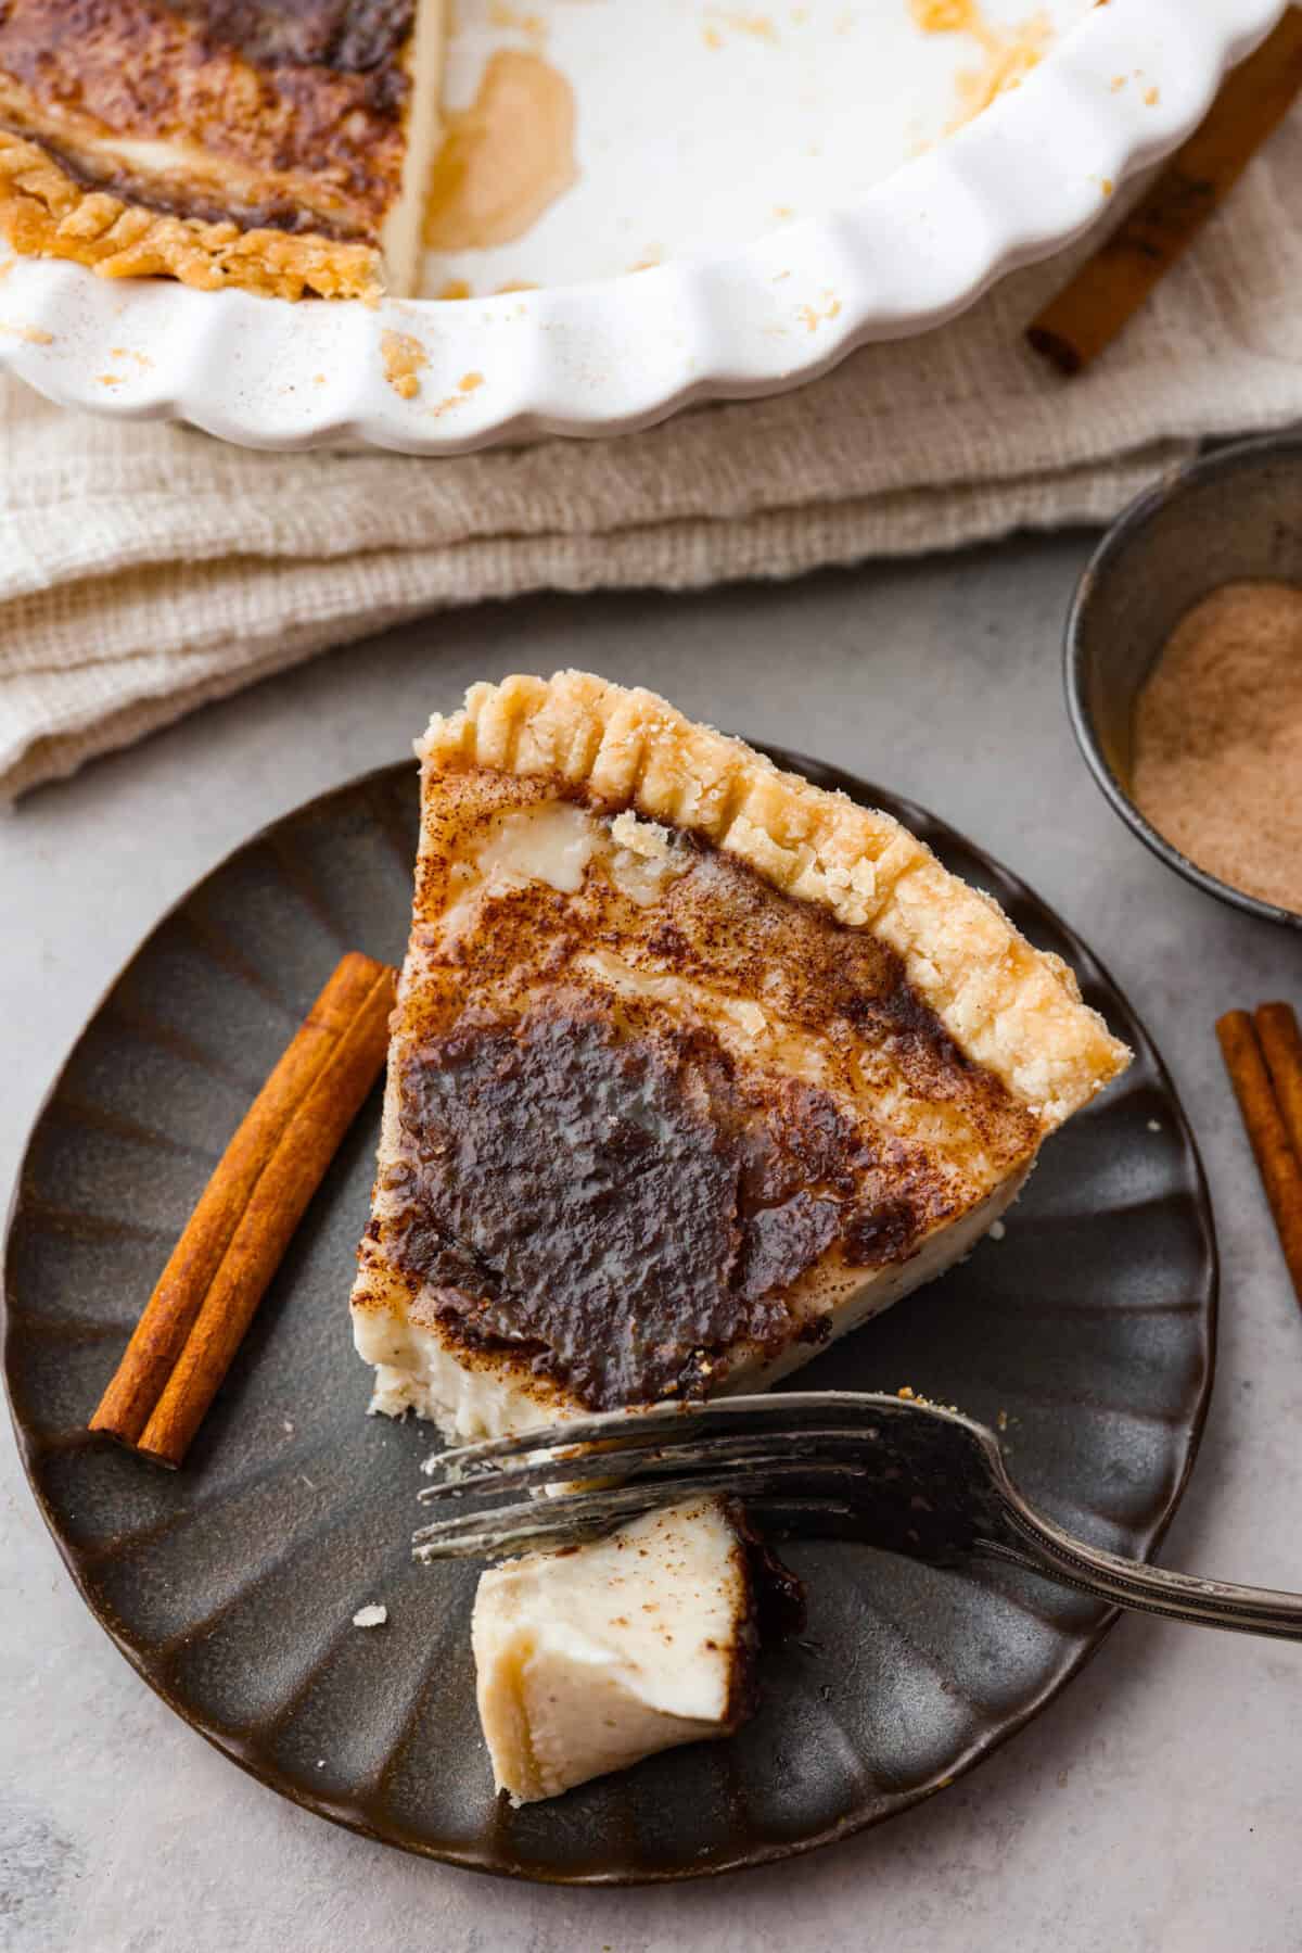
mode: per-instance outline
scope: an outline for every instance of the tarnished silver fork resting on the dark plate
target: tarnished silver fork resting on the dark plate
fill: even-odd
[[[584,1478],[558,1482],[580,1459]],[[1009,1560],[1117,1607],[1302,1641],[1302,1594],[1175,1574],[1076,1539],[1017,1490],[994,1432],[919,1398],[791,1391],[615,1410],[443,1451],[424,1471],[433,1484],[420,1500],[441,1517],[416,1533],[420,1560],[566,1547],[718,1492],[787,1533],[933,1564]],[[447,1510],[457,1500],[467,1510]]]

